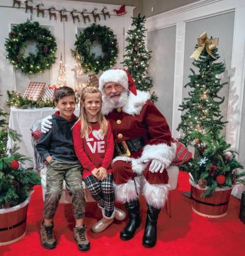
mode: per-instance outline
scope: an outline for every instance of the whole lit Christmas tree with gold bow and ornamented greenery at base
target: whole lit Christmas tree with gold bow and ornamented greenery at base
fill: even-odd
[[[204,190],[202,197],[210,197],[217,188],[230,189],[237,182],[245,183],[245,172],[238,173],[243,166],[236,159],[236,151],[221,136],[224,124],[220,104],[224,97],[218,92],[227,83],[221,83],[218,75],[224,72],[223,63],[216,63],[218,39],[208,39],[207,33],[201,34],[198,46],[192,53],[195,57],[191,69],[188,97],[180,105],[184,111],[177,130],[182,130],[180,141],[195,147],[194,158],[180,166],[182,171],[191,174],[190,183]]]

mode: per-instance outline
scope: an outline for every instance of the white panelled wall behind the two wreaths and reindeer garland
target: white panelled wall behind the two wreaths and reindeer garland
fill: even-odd
[[[36,6],[40,1],[33,1],[33,4],[30,5]],[[95,4],[88,2],[78,2],[78,1],[43,1],[44,8],[49,8],[51,5],[56,7],[56,9],[62,9],[65,7],[67,11],[71,11],[73,8],[76,8],[78,11],[82,11],[83,8],[86,8],[89,12],[92,11],[94,7],[98,8],[97,12],[100,12],[104,4]],[[21,6],[24,7],[24,1],[21,1]],[[106,5],[110,14],[114,14],[113,9],[118,9],[118,5]],[[125,31],[128,30],[128,27],[131,24],[131,18],[133,16],[133,7],[127,7],[127,14],[123,16],[111,15],[111,18],[104,20],[104,17],[101,15],[101,21],[97,24],[106,25],[114,31],[115,36],[118,41],[118,59],[115,67],[121,67],[120,62],[123,61],[124,55],[124,44],[125,44]],[[1,37],[0,37],[0,94],[3,96],[0,97],[0,108],[4,108],[5,111],[9,111],[5,105],[7,100],[7,90],[17,90],[18,92],[24,92],[25,88],[28,85],[29,81],[43,81],[47,84],[56,84],[57,73],[59,71],[59,58],[60,53],[62,53],[63,58],[66,63],[66,78],[68,84],[72,84],[75,80],[75,60],[73,59],[70,49],[74,49],[74,43],[76,40],[75,34],[78,31],[78,28],[85,28],[90,26],[94,19],[91,15],[91,23],[83,23],[82,16],[80,16],[80,23],[73,24],[72,17],[68,15],[68,21],[60,22],[59,12],[56,12],[57,20],[49,20],[48,12],[45,12],[45,17],[37,17],[36,10],[33,11],[33,15],[30,15],[30,11],[25,13],[25,9],[12,8],[12,1],[10,0],[1,0],[0,2],[0,24],[1,24]],[[5,51],[5,38],[8,37],[9,32],[11,31],[12,24],[20,24],[31,19],[38,21],[40,25],[47,26],[51,30],[51,33],[56,38],[57,43],[57,53],[56,53],[56,63],[52,66],[50,71],[46,71],[44,74],[38,74],[34,76],[25,75],[19,71],[14,70],[13,66],[6,59],[7,52]]]

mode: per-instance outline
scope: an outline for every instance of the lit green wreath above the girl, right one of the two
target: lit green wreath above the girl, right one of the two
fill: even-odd
[[[94,42],[101,44],[103,56],[95,56],[95,53],[91,52],[91,47]],[[117,39],[112,30],[106,26],[91,25],[85,28],[82,33],[76,35],[75,42],[76,50],[73,51],[73,55],[76,52],[84,57],[81,63],[85,72],[94,71],[105,71],[111,68],[117,59]]]

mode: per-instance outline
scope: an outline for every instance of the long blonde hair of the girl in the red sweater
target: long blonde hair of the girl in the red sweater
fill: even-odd
[[[82,106],[82,103],[85,101],[86,94],[88,93],[91,93],[91,94],[99,93],[101,95],[101,102],[102,102],[102,94],[97,87],[88,86],[82,89],[81,97],[80,97],[80,114],[78,118],[78,121],[81,122],[81,137],[85,137],[86,133],[89,134],[92,131],[91,124],[88,119],[88,114],[86,113],[85,108]],[[99,127],[105,136],[107,134],[108,123],[107,123],[107,119],[105,119],[105,117],[102,115],[101,110],[99,110],[98,112],[98,122],[99,122]]]

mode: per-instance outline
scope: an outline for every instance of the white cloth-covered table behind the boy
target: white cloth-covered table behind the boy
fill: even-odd
[[[21,109],[11,107],[9,116],[9,128],[14,129],[19,133],[21,137],[21,142],[18,144],[20,149],[18,152],[25,156],[29,156],[33,161],[25,162],[26,167],[34,167],[34,151],[31,143],[31,130],[30,126],[37,120],[41,120],[50,114],[57,111],[57,108],[31,108],[31,109]],[[75,110],[76,116],[79,115],[79,108]],[[12,148],[14,142],[8,140],[8,148]]]

